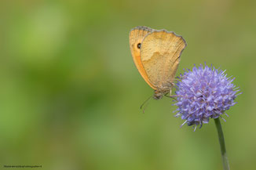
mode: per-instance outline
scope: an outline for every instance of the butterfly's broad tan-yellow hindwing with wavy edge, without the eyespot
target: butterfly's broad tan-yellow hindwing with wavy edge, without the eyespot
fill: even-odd
[[[141,63],[157,89],[170,87],[186,42],[174,32],[152,31],[141,44]]]

